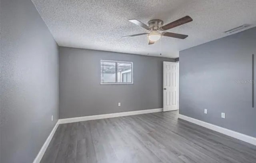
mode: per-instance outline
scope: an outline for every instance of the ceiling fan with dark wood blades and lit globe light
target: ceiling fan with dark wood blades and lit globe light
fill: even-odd
[[[193,21],[192,18],[190,18],[190,16],[185,16],[183,18],[180,18],[174,22],[171,22],[169,24],[166,24],[163,26],[164,22],[162,20],[159,19],[154,19],[154,20],[150,20],[148,22],[148,26],[142,22],[140,22],[139,20],[136,19],[130,19],[130,22],[141,26],[142,28],[145,28],[146,30],[149,30],[149,33],[142,33],[142,34],[133,34],[133,35],[129,35],[129,36],[122,36],[122,38],[127,38],[127,37],[134,37],[134,36],[140,36],[140,35],[148,35],[148,44],[154,44],[156,41],[158,41],[162,36],[167,36],[167,37],[173,37],[173,38],[180,38],[180,39],[185,39],[188,37],[188,35],[184,35],[184,34],[176,34],[176,33],[172,33],[172,32],[162,32],[165,30],[169,30],[171,28],[174,28],[176,26],[180,26],[182,24],[186,24],[188,22]]]

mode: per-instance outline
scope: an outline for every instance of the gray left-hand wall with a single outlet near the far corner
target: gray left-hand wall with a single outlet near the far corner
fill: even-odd
[[[0,162],[32,163],[58,119],[58,46],[31,0],[0,12]]]

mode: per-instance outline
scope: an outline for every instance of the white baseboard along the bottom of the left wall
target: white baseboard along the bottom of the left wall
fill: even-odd
[[[52,137],[55,133],[55,131],[57,130],[59,125],[59,121],[57,121],[56,125],[53,127],[50,135],[48,136],[48,138],[46,139],[46,141],[44,142],[44,145],[42,146],[42,148],[40,149],[39,153],[37,154],[36,158],[34,159],[33,163],[40,163],[41,159],[44,156],[44,153],[48,147],[48,145],[50,144]]]

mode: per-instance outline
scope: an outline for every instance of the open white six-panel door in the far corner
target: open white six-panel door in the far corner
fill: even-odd
[[[164,62],[163,111],[178,110],[178,68],[176,62]]]

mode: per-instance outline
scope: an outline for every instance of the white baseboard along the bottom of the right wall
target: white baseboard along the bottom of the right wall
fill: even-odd
[[[191,123],[195,123],[195,124],[200,125],[202,127],[206,127],[208,129],[217,131],[219,133],[228,135],[230,137],[234,137],[236,139],[245,141],[246,143],[250,143],[252,145],[256,145],[256,137],[251,137],[251,136],[248,136],[248,135],[245,135],[245,134],[242,134],[242,133],[238,133],[236,131],[232,131],[230,129],[226,129],[226,128],[223,128],[223,127],[220,127],[220,126],[217,126],[217,125],[213,125],[211,123],[200,121],[198,119],[194,119],[194,118],[191,118],[191,117],[188,117],[188,116],[185,116],[185,115],[179,114],[178,117],[180,119],[185,120],[185,121],[189,121]]]

